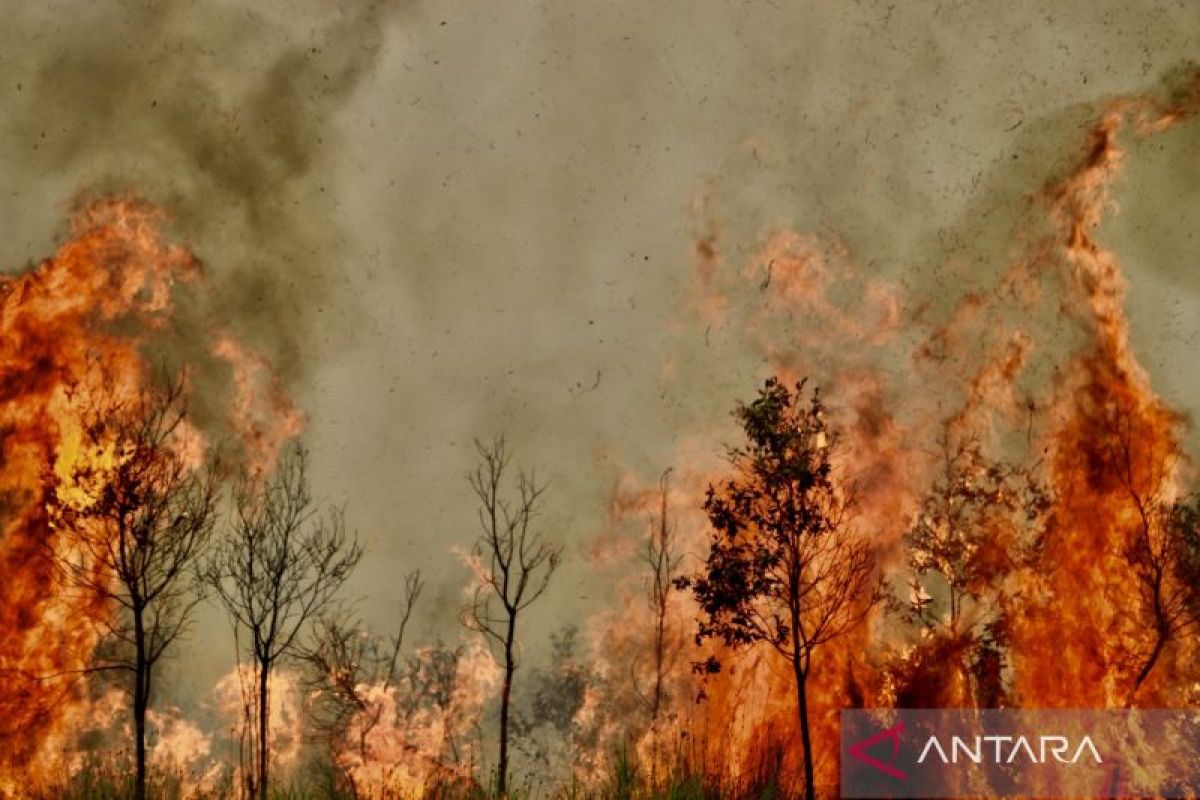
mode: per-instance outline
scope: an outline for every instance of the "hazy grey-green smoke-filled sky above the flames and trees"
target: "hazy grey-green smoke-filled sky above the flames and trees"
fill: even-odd
[[[164,205],[198,313],[307,414],[380,632],[420,567],[421,636],[458,636],[463,475],[504,432],[566,546],[530,646],[611,597],[587,559],[618,480],[716,452],[764,377],[689,307],[697,239],[736,271],[812,233],[936,318],[1003,267],[1097,109],[1169,85],[1200,32],[1186,1],[5,5],[0,264],[50,254],[79,192]],[[1184,410],[1198,155],[1196,125],[1130,144],[1102,230]],[[192,688],[232,652],[209,612]]]

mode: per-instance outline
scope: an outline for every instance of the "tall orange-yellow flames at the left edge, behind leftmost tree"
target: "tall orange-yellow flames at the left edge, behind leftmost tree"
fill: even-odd
[[[79,678],[113,609],[71,591],[53,569],[47,500],[101,488],[71,483],[77,474],[106,475],[118,457],[84,446],[84,410],[96,399],[133,401],[149,386],[156,365],[148,353],[173,319],[174,289],[202,277],[199,261],[163,236],[166,222],[134,198],[84,200],[52,258],[0,282],[0,793],[37,784],[74,734],[97,724]],[[262,411],[251,387],[265,365],[228,337],[211,349],[233,365],[230,425],[245,434],[247,457],[269,458],[295,432],[296,415],[275,387],[271,408],[283,413],[271,419],[283,433],[252,422]],[[179,440],[198,461],[199,433]],[[100,469],[78,469],[85,463]]]

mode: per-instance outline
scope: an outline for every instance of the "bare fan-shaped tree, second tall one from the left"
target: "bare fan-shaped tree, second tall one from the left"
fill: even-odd
[[[246,720],[246,735],[253,769],[245,776],[251,796],[268,796],[271,673],[295,654],[307,624],[335,602],[361,555],[343,510],[317,509],[301,445],[284,451],[274,474],[241,476],[232,524],[205,577],[252,667],[253,718]]]

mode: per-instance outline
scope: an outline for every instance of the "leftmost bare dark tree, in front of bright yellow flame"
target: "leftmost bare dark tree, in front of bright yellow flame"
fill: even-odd
[[[146,710],[160,661],[187,633],[203,597],[194,567],[212,533],[220,473],[196,450],[182,374],[127,401],[86,408],[80,449],[49,512],[50,557],[65,584],[110,604],[95,669],[132,680],[136,796],[146,792]]]

